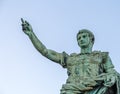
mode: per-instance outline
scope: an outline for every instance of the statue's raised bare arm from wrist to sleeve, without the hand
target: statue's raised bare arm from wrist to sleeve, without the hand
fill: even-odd
[[[62,53],[55,52],[53,50],[47,49],[44,44],[37,38],[34,32],[29,34],[29,38],[32,41],[34,47],[45,57],[48,59],[60,63],[62,58]]]

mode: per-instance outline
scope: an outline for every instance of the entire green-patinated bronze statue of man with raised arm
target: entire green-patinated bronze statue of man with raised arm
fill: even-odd
[[[34,47],[48,59],[67,69],[68,79],[60,94],[120,94],[120,76],[115,71],[108,52],[92,51],[95,37],[87,29],[77,34],[79,54],[58,53],[47,49],[36,37],[31,25],[22,20],[22,29]]]

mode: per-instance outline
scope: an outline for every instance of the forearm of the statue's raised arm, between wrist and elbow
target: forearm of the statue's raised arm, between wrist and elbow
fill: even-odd
[[[42,44],[42,42],[37,38],[37,36],[34,34],[34,32],[31,32],[29,35],[29,38],[34,45],[34,47],[42,54],[46,55],[47,54],[47,49],[46,47]]]

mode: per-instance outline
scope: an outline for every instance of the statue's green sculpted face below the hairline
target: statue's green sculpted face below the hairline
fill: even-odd
[[[81,33],[77,36],[78,45],[81,48],[87,48],[90,44],[90,37],[88,33]]]

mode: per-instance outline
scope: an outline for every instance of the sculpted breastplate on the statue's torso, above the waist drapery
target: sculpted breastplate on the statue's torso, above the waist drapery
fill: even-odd
[[[69,56],[67,58],[69,76],[67,81],[77,83],[98,76],[101,63],[102,55],[100,53]]]

